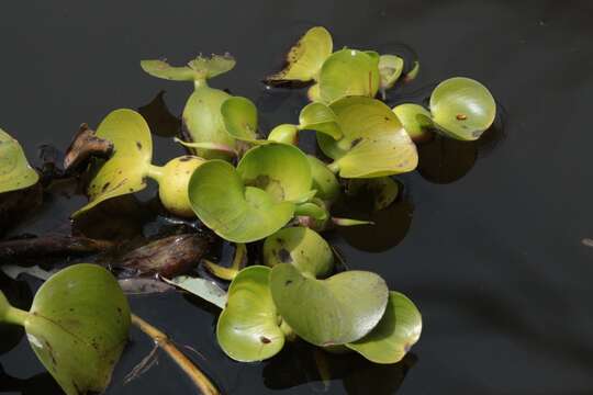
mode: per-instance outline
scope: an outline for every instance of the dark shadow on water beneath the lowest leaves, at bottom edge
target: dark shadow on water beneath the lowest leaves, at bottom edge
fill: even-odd
[[[409,353],[395,364],[376,364],[357,353],[332,354],[303,341],[287,345],[266,362],[264,383],[270,390],[307,384],[307,393],[324,393],[340,380],[346,394],[394,394],[417,358]]]

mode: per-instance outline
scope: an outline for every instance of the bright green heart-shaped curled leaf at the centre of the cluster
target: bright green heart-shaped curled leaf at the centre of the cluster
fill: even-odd
[[[222,160],[198,168],[189,199],[198,217],[217,235],[235,242],[262,239],[314,194],[306,156],[296,147],[272,143],[248,150],[235,169]]]

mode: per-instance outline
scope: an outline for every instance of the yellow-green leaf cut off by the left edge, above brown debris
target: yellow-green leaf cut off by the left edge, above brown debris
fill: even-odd
[[[0,128],[0,193],[29,188],[38,179],[19,142]]]

